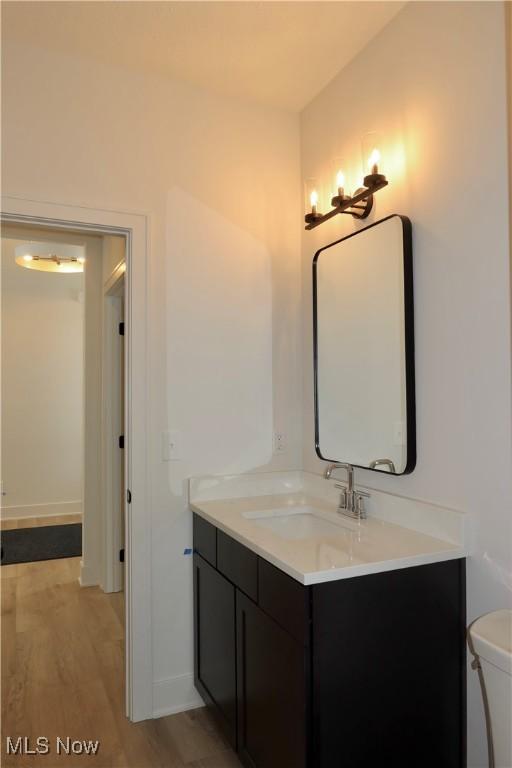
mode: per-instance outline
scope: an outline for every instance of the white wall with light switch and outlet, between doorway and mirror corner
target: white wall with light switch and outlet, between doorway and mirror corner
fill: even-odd
[[[151,214],[147,514],[161,713],[197,700],[186,478],[301,461],[298,118],[3,34],[3,193]],[[182,432],[181,461],[161,461],[167,428]],[[272,454],[273,429],[287,453]]]

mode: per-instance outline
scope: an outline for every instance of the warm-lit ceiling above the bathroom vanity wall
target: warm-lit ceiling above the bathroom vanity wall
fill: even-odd
[[[3,2],[2,36],[300,111],[405,2]]]

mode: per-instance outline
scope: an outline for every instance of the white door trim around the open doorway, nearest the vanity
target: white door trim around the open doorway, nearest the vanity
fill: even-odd
[[[151,497],[148,468],[148,301],[150,216],[2,196],[0,221],[126,238],[125,274],[125,658],[126,715],[153,716]]]

